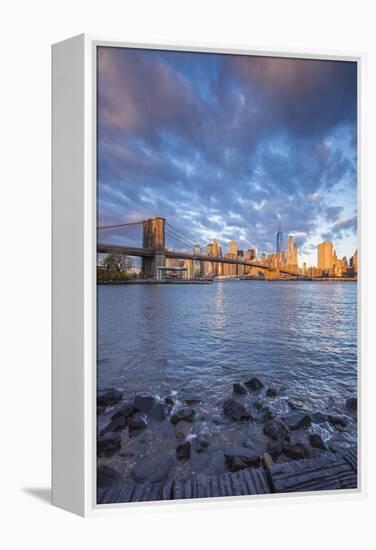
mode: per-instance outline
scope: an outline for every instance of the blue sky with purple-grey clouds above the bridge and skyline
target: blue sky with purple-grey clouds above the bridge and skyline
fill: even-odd
[[[99,226],[271,253],[280,224],[300,264],[354,254],[355,63],[100,47],[97,109]]]

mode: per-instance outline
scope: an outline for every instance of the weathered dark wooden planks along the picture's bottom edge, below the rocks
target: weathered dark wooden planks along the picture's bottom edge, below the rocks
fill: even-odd
[[[272,464],[236,473],[198,475],[165,483],[120,482],[98,488],[97,504],[182,500],[357,488],[357,453]]]

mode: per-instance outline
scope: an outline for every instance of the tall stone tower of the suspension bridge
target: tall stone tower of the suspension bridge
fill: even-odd
[[[165,218],[156,217],[143,222],[142,247],[153,251],[149,258],[142,258],[141,275],[145,279],[157,277],[158,266],[166,265]]]

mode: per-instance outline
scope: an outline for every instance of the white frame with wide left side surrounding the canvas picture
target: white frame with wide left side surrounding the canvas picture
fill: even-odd
[[[354,61],[358,65],[358,489],[129,504],[96,504],[96,48],[213,52]],[[143,44],[79,35],[52,47],[52,503],[81,516],[328,502],[366,495],[364,53],[223,44]],[[362,245],[360,246],[360,238]],[[69,259],[67,261],[67,258]],[[73,261],[72,261],[73,260]],[[68,263],[69,262],[69,263]],[[361,449],[361,452],[360,452]]]

